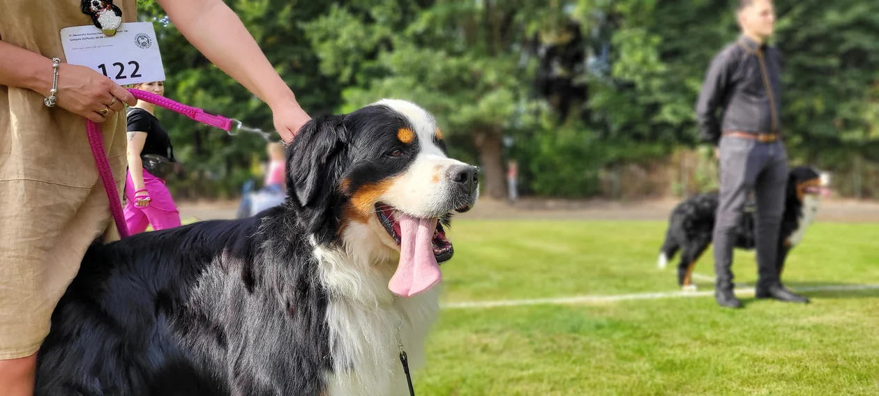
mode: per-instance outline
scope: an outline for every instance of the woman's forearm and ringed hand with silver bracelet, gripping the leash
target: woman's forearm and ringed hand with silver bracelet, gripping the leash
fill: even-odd
[[[0,85],[33,90],[49,97],[52,90],[52,60],[0,40]],[[119,100],[113,102],[113,97]],[[130,92],[106,76],[84,66],[62,63],[58,68],[57,104],[64,110],[95,122],[104,122],[113,112],[122,111],[122,103],[137,104]],[[113,102],[113,105],[110,103]],[[109,106],[112,111],[98,114]]]

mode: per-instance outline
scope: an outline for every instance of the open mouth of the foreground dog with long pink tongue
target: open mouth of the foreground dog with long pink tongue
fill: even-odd
[[[388,288],[398,296],[411,297],[439,284],[439,263],[452,258],[454,248],[439,219],[420,219],[390,205],[376,204],[375,213],[385,231],[400,247],[400,263]]]

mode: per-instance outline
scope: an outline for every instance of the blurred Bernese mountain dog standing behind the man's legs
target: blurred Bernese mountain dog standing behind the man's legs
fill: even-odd
[[[778,249],[779,272],[784,267],[788,252],[803,240],[818,208],[818,197],[823,190],[822,176],[810,167],[790,169],[786,192],[784,214],[781,217],[781,231]],[[693,269],[702,253],[711,244],[714,233],[718,205],[717,191],[711,191],[687,198],[672,210],[669,226],[665,231],[665,241],[659,249],[659,269],[665,269],[669,260],[680,250],[678,264],[678,284],[684,291],[695,291]],[[736,227],[736,248],[752,250],[756,247],[754,239],[754,205],[752,199],[745,205],[745,213]]]

